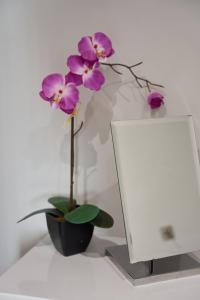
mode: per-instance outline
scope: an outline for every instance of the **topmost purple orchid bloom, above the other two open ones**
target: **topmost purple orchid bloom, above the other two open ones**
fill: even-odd
[[[83,37],[78,43],[78,50],[88,61],[104,61],[114,53],[111,40],[102,32]]]

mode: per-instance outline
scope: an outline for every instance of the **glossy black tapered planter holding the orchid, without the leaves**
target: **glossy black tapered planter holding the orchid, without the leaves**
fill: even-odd
[[[46,220],[51,240],[62,255],[74,255],[86,250],[94,231],[91,223],[77,225],[61,222],[49,214],[46,214]]]

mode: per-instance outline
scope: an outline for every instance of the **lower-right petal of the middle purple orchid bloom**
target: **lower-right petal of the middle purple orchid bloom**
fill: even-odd
[[[83,85],[90,90],[99,91],[104,82],[105,78],[103,74],[97,69],[83,75]]]

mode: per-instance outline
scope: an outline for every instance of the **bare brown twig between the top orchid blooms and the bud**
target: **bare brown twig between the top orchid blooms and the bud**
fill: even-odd
[[[104,66],[109,66],[114,72],[116,72],[117,74],[119,75],[122,75],[122,73],[118,70],[115,69],[115,67],[123,67],[123,68],[126,68],[129,70],[129,72],[131,73],[131,75],[135,78],[135,81],[137,82],[138,86],[140,88],[143,88],[145,86],[142,85],[141,82],[145,82],[146,83],[146,87],[148,89],[148,91],[150,92],[151,91],[151,88],[150,86],[157,86],[157,87],[161,87],[161,88],[164,88],[163,85],[161,84],[157,84],[157,83],[154,83],[154,82],[151,82],[149,81],[148,79],[146,78],[143,78],[143,77],[140,77],[138,76],[132,69],[141,65],[142,64],[142,61],[140,61],[139,63],[137,64],[134,64],[134,65],[131,65],[131,66],[128,66],[128,65],[125,65],[125,64],[120,64],[120,63],[104,63],[102,62],[101,65],[104,65]]]

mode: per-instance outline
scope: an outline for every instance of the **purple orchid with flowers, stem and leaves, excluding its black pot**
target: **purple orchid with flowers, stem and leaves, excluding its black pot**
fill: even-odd
[[[54,73],[46,76],[42,81],[42,90],[40,91],[40,96],[44,101],[48,102],[52,108],[61,109],[71,119],[69,198],[60,196],[52,197],[48,201],[54,208],[35,211],[19,222],[32,215],[46,212],[57,217],[59,221],[68,221],[74,224],[91,222],[96,226],[104,228],[109,228],[113,225],[113,218],[108,213],[95,205],[77,205],[73,194],[74,138],[83,126],[83,123],[81,123],[81,126],[77,130],[74,128],[74,118],[80,99],[79,86],[82,85],[89,90],[99,91],[105,83],[105,77],[101,70],[102,65],[111,68],[119,75],[122,75],[121,69],[128,69],[138,87],[147,89],[147,103],[150,109],[157,109],[164,104],[163,95],[155,90],[155,88],[162,88],[163,86],[138,76],[133,71],[142,62],[131,66],[122,63],[107,62],[107,59],[114,54],[114,50],[112,42],[106,34],[96,32],[93,36],[84,36],[78,43],[78,52],[78,55],[70,55],[67,58],[68,73],[66,75]]]

